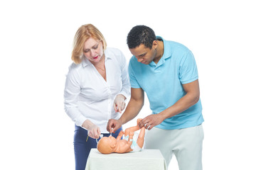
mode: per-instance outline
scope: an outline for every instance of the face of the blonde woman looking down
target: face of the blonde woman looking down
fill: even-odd
[[[99,62],[103,55],[102,41],[89,38],[85,41],[82,53],[90,62]]]

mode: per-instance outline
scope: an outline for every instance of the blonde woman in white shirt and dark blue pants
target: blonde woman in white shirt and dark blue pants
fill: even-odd
[[[73,64],[65,81],[65,112],[75,122],[75,169],[84,170],[100,135],[108,137],[107,121],[118,119],[130,95],[127,62],[122,52],[107,47],[100,30],[80,26],[74,38]],[[117,137],[122,127],[113,134]],[[96,139],[96,140],[95,140]]]

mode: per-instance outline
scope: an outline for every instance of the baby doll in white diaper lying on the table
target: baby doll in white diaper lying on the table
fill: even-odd
[[[144,145],[144,136],[145,136],[145,128],[142,127],[139,136],[137,137],[137,141],[134,139],[134,132],[139,130],[139,122],[142,119],[137,120],[137,126],[133,126],[131,128],[127,128],[124,131],[119,132],[117,139],[110,137],[102,137],[97,144],[97,149],[102,154],[110,154],[110,153],[126,153],[126,152],[137,152],[142,150]],[[124,140],[121,140],[122,135],[124,135]]]

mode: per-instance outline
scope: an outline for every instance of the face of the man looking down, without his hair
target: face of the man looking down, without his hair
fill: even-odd
[[[129,48],[129,50],[137,58],[138,62],[142,64],[149,64],[156,57],[156,48],[154,45],[149,49],[149,47],[141,44],[138,47]]]

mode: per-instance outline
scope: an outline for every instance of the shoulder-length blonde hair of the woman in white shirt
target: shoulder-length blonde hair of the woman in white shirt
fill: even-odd
[[[73,60],[73,62],[75,62],[75,64],[79,64],[80,62],[82,62],[82,49],[85,45],[85,41],[89,38],[94,38],[95,40],[102,41],[103,51],[106,50],[107,42],[102,33],[100,33],[100,30],[98,30],[95,26],[93,26],[90,23],[82,25],[80,26],[80,28],[78,28],[78,31],[75,33],[75,38],[73,42],[73,51],[71,59]]]

